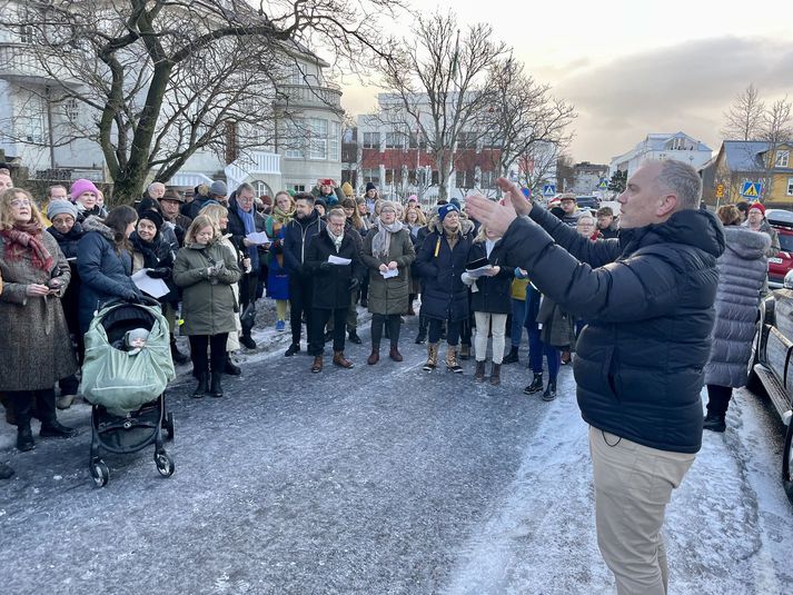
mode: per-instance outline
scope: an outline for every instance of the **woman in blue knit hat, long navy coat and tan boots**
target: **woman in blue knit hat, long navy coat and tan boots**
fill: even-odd
[[[448,204],[438,208],[438,215],[427,225],[429,234],[416,257],[416,268],[424,282],[422,316],[429,320],[427,363],[429,371],[438,364],[438,341],[444,320],[446,331],[446,367],[462,373],[457,361],[460,328],[468,319],[468,287],[460,275],[468,264],[468,252],[474,241],[474,224],[460,218],[459,208]]]

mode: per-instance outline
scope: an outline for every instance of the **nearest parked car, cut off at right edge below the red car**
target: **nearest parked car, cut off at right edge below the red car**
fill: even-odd
[[[760,319],[749,365],[747,388],[766,394],[782,423],[787,426],[782,450],[782,483],[793,503],[793,271],[782,289],[772,291],[760,305]]]

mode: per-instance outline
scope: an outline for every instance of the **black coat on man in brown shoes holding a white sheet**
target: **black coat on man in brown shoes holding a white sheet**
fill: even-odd
[[[330,255],[348,258],[351,264],[327,265]],[[364,272],[356,238],[351,234],[345,234],[341,246],[336,251],[336,245],[327,229],[323,230],[314,237],[314,241],[306,250],[304,270],[311,275],[314,281],[313,306],[315,308],[335,310],[349,307],[350,282],[354,278],[360,282]]]

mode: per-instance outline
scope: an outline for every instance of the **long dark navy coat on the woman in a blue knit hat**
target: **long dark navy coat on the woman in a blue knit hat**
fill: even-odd
[[[429,234],[416,257],[416,268],[424,281],[422,316],[454,323],[466,320],[470,315],[468,286],[460,275],[465,272],[474,242],[474,224],[460,219],[460,225],[463,232],[452,249],[438,218],[434,217],[428,224]]]

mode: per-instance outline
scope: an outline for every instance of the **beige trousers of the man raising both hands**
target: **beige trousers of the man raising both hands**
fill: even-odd
[[[661,528],[694,455],[650,448],[589,427],[597,545],[618,595],[666,595]]]

